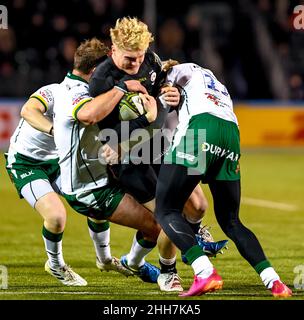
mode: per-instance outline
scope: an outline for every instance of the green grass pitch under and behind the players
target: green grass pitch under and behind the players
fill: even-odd
[[[304,265],[303,163],[304,150],[247,151],[241,158],[244,197],[241,220],[255,232],[281,279],[293,289],[291,300],[304,299],[303,289],[294,288],[297,279],[304,287],[304,275],[294,273],[296,266]],[[215,239],[225,239],[214,218],[208,187],[203,186],[203,190],[210,204],[204,224],[212,227]],[[68,206],[66,208],[65,261],[88,281],[87,287],[65,287],[44,271],[46,254],[41,237],[42,219],[24,200],[19,200],[5,172],[1,155],[0,265],[8,270],[8,288],[0,289],[0,300],[181,300],[175,293],[160,292],[157,284],[111,272],[101,273],[95,266],[86,218]],[[131,229],[112,224],[112,254],[120,257],[128,252],[133,234]],[[158,264],[156,249],[147,260]],[[231,241],[229,250],[211,261],[223,277],[223,290],[191,300],[273,299]],[[184,289],[189,288],[192,269],[181,262],[180,256],[177,267]]]

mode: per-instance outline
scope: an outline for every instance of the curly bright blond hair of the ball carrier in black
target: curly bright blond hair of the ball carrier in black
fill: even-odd
[[[117,19],[115,28],[110,29],[112,43],[119,49],[146,50],[154,40],[148,26],[137,18]]]

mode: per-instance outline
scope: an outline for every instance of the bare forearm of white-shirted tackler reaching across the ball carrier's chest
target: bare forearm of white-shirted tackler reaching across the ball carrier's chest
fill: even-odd
[[[123,91],[113,88],[86,103],[77,113],[77,119],[93,125],[107,117],[121,100]]]

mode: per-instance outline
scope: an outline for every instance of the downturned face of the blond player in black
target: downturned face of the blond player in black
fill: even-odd
[[[145,50],[129,51],[119,49],[117,46],[112,48],[112,58],[115,65],[128,74],[137,74],[145,59]]]

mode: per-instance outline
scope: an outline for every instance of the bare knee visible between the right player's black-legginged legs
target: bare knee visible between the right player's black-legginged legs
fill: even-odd
[[[184,213],[190,219],[197,221],[204,216],[207,208],[208,208],[207,198],[200,184],[198,184],[195,187],[195,189],[192,191],[190,197],[188,198],[184,206]]]

